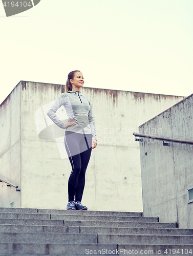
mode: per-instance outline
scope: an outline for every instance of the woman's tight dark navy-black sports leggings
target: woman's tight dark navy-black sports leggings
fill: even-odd
[[[81,201],[84,185],[85,173],[91,157],[92,134],[81,134],[75,132],[65,132],[65,147],[72,165],[72,172],[68,182],[69,201]]]

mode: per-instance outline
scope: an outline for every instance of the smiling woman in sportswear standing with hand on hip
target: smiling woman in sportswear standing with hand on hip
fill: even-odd
[[[97,146],[91,100],[80,92],[83,84],[83,75],[79,70],[70,72],[65,93],[57,98],[47,113],[55,124],[66,129],[65,147],[72,166],[68,182],[69,202],[67,210],[88,210],[86,206],[82,205],[81,200],[91,150]],[[56,116],[56,111],[62,105],[65,107],[69,118],[66,124]]]

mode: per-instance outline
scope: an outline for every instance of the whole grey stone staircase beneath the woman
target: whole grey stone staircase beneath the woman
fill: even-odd
[[[0,255],[193,256],[192,229],[142,215],[0,208]]]

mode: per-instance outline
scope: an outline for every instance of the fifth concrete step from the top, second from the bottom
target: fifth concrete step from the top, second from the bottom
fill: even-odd
[[[193,236],[160,234],[0,233],[1,243],[192,244]]]

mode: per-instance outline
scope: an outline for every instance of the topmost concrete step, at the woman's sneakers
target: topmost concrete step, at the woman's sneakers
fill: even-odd
[[[143,217],[143,212],[127,211],[77,211],[60,209],[37,209],[37,208],[0,208],[0,212],[24,213],[24,214],[65,214],[65,215],[102,215],[102,216],[133,216]]]

